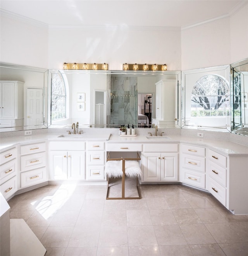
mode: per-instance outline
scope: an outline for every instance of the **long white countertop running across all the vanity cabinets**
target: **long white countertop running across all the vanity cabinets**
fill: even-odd
[[[128,142],[128,143],[187,143],[196,144],[203,147],[208,147],[213,150],[218,150],[220,153],[225,155],[246,155],[248,154],[248,147],[234,142],[229,142],[226,140],[214,140],[214,139],[204,139],[198,137],[187,137],[181,135],[168,135],[169,138],[155,137],[153,138],[138,135],[136,137],[122,137],[119,135],[111,135],[110,133],[83,133],[82,135],[66,135],[61,137],[61,133],[45,133],[40,135],[26,135],[19,137],[2,138],[0,141],[0,150],[8,149],[13,147],[15,144],[29,144],[38,143],[45,140],[106,140],[107,143],[117,143],[117,142]]]

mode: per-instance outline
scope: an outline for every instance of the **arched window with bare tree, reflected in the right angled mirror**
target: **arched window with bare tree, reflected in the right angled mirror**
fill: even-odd
[[[229,116],[230,91],[220,76],[202,76],[191,93],[191,117]]]

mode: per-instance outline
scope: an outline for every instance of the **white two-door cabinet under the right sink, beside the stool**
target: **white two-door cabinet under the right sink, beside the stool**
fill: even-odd
[[[177,151],[177,144],[144,144],[141,153],[141,182],[178,181]]]

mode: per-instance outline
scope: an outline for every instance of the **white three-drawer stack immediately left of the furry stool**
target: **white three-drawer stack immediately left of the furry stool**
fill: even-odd
[[[105,180],[105,142],[88,141],[86,142],[86,179]]]

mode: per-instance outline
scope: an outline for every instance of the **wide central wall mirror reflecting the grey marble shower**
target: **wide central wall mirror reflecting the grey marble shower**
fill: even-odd
[[[181,126],[181,71],[49,70],[48,76],[50,127]]]

